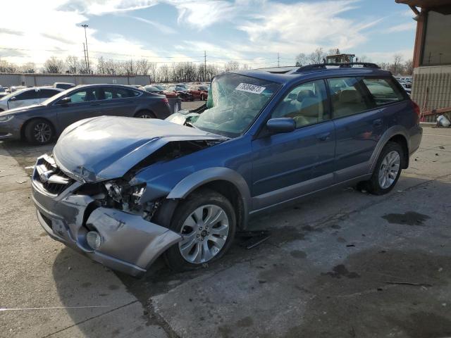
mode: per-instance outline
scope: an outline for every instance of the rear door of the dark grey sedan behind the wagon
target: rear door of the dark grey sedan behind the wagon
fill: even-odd
[[[123,87],[102,87],[104,100],[101,101],[102,115],[128,116],[135,115],[137,99],[142,93]]]

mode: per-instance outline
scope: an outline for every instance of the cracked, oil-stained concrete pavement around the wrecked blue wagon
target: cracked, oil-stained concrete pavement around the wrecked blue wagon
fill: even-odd
[[[388,195],[311,197],[252,220],[271,230],[253,249],[237,238],[202,270],[159,260],[139,280],[39,226],[30,166],[51,149],[0,143],[1,337],[451,335],[451,129],[424,128]]]

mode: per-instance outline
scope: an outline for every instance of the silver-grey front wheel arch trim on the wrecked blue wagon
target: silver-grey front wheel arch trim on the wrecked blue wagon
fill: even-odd
[[[185,199],[192,192],[203,188],[226,196],[237,213],[237,227],[246,227],[251,196],[245,179],[235,170],[219,167],[192,173],[176,184],[166,199]]]

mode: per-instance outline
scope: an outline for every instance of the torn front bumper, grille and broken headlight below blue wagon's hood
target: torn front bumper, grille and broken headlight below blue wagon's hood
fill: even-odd
[[[51,157],[42,156],[36,168],[46,165],[47,175],[54,170],[50,178],[63,177],[51,163]],[[163,251],[181,239],[179,234],[152,223],[158,202],[140,204],[143,184],[130,187],[118,182],[73,181],[52,189],[42,182],[36,168],[32,199],[39,223],[52,238],[94,261],[140,276]]]

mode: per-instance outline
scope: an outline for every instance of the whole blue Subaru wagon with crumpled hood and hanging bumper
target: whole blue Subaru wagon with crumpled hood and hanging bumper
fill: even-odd
[[[387,194],[421,142],[419,107],[372,64],[237,70],[211,93],[202,113],[70,125],[32,174],[44,230],[130,275],[161,253],[198,268],[251,216],[330,187]]]

